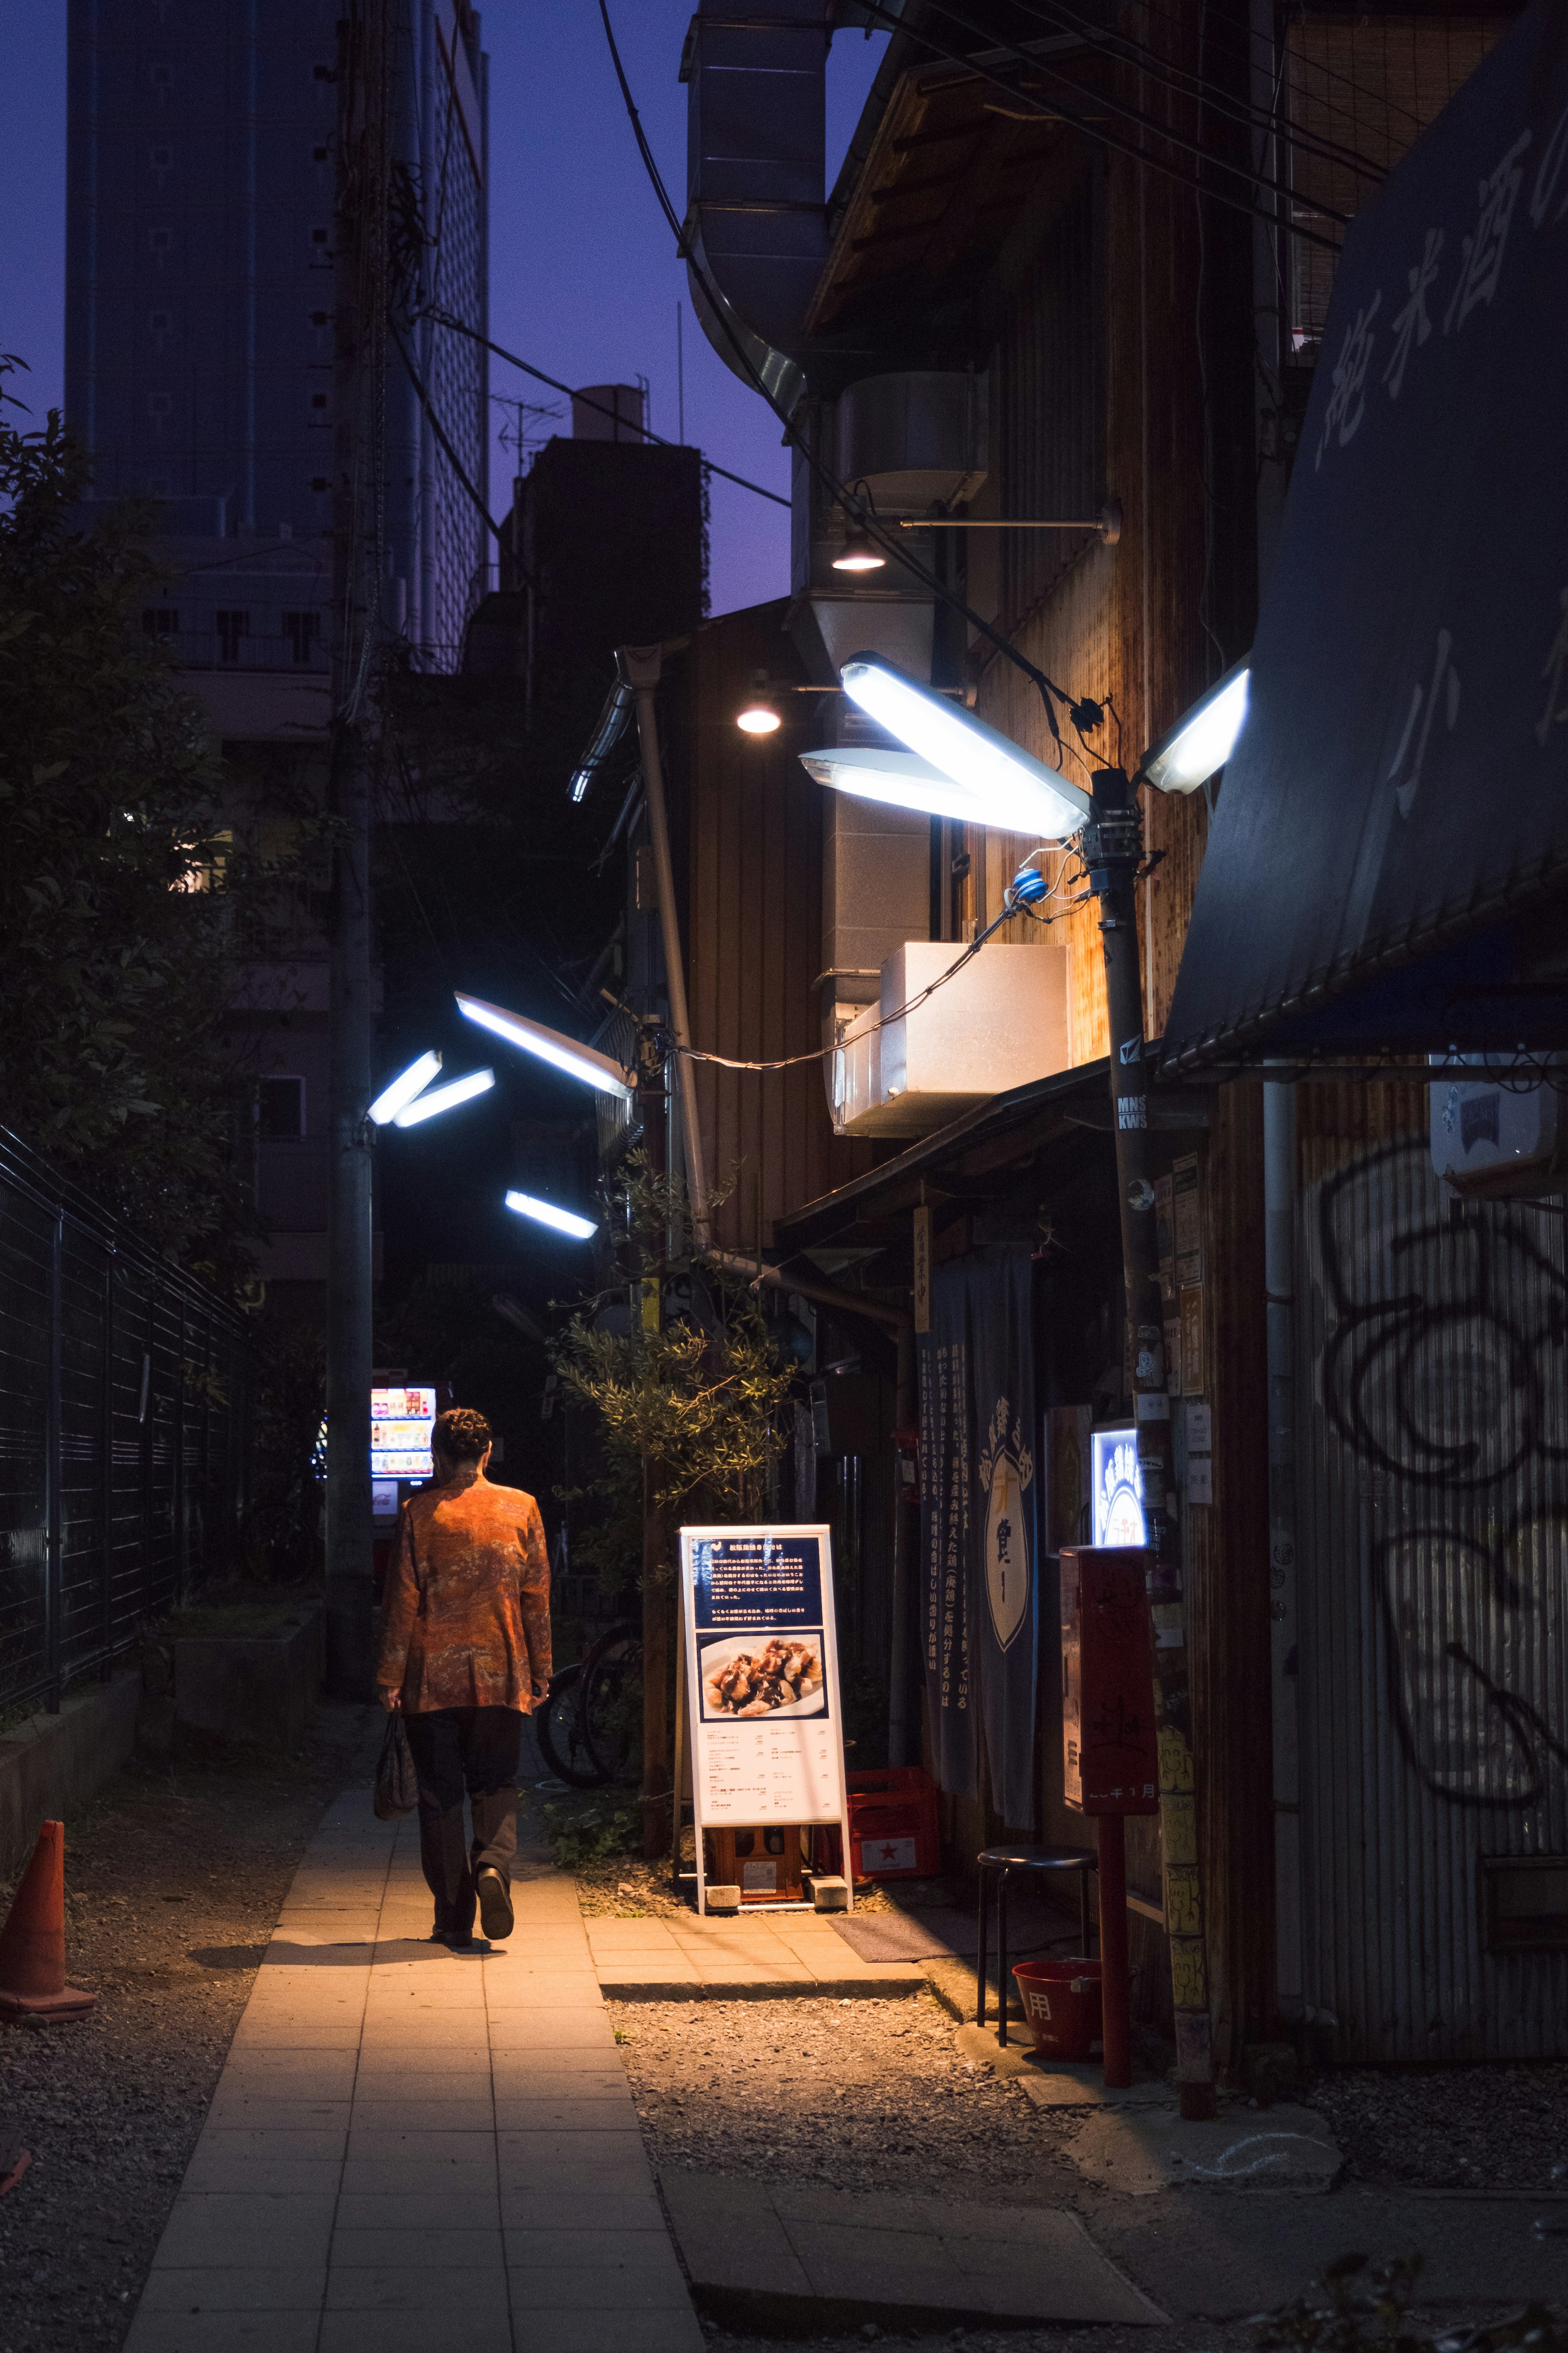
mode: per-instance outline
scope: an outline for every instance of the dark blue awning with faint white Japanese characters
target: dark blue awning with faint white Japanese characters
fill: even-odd
[[[1349,231],[1166,1068],[1568,1045],[1566,889],[1568,7],[1537,0]]]

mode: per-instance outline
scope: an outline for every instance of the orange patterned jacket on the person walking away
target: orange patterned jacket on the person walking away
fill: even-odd
[[[381,1605],[376,1682],[404,1715],[534,1708],[550,1682],[550,1558],[538,1504],[487,1478],[402,1506]]]

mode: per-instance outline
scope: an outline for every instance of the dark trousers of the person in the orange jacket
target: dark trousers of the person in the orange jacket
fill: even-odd
[[[418,1777],[418,1859],[435,1897],[435,1934],[473,1937],[475,1873],[512,1882],[517,1852],[520,1708],[430,1708],[404,1715]],[[473,1845],[463,1838],[463,1793]]]

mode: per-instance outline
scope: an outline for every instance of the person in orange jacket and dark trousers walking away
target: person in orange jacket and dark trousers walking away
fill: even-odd
[[[538,1504],[484,1475],[491,1433],[458,1405],[430,1438],[435,1482],[402,1506],[376,1687],[402,1708],[418,1774],[433,1941],[512,1934],[522,1718],[550,1687],[550,1558]],[[463,1838],[463,1791],[473,1845]]]

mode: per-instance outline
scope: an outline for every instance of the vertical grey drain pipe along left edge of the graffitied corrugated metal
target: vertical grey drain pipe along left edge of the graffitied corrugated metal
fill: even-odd
[[[1269,1682],[1274,1713],[1274,1984],[1300,2024],[1300,1619],[1295,1607],[1295,1087],[1262,1089],[1262,1268],[1269,1362]]]

